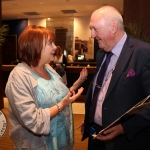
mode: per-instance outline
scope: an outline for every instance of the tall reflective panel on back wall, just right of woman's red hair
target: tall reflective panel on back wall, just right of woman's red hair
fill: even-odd
[[[46,20],[46,27],[55,33],[55,44],[65,50],[66,56],[72,54],[74,18],[50,18]]]

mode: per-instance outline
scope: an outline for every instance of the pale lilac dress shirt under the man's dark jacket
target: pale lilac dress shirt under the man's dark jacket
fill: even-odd
[[[126,38],[127,38],[127,35],[125,33],[124,36],[122,37],[122,39],[112,49],[111,52],[113,53],[113,55],[110,59],[110,63],[108,65],[108,68],[106,70],[106,74],[105,74],[105,77],[104,77],[104,80],[103,80],[103,85],[102,85],[102,88],[99,92],[96,111],[95,111],[95,116],[94,116],[94,122],[98,125],[101,125],[101,126],[102,126],[102,105],[103,105],[103,101],[105,99],[107,89],[109,87],[109,83],[110,83],[110,80],[111,80],[111,77],[112,77],[112,72],[115,69],[115,65],[116,65],[117,60],[119,58],[119,55],[121,53],[122,47],[123,47],[123,45],[126,41]],[[106,59],[106,56],[104,57],[103,62],[105,61],[105,59]],[[101,67],[99,68],[99,71],[100,71],[100,69],[101,69]],[[98,75],[99,71],[97,72],[97,75]],[[95,79],[93,81],[93,93],[94,93],[94,89],[95,89],[97,75],[95,76]]]

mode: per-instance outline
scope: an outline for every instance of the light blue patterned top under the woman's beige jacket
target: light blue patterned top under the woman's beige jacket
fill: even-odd
[[[38,80],[36,87],[37,105],[43,109],[56,105],[69,92],[66,85],[53,72],[46,67],[45,69],[51,77],[50,80],[45,80],[32,72],[33,76]],[[70,104],[50,120],[50,133],[45,135],[45,140],[49,150],[72,150],[73,137],[73,115]]]

